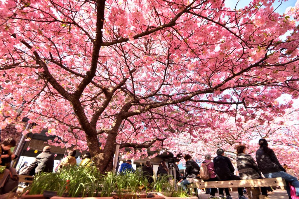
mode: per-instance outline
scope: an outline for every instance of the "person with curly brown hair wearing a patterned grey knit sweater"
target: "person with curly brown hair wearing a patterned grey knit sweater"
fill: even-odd
[[[260,172],[257,164],[251,155],[248,155],[247,148],[244,145],[236,147],[237,150],[237,168],[240,178],[242,180],[261,179],[262,173]],[[268,196],[267,188],[261,187],[262,195]]]

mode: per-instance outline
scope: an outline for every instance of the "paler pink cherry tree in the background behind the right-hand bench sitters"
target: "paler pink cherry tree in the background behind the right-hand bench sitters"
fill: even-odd
[[[261,112],[251,120],[246,120],[239,114],[238,119],[242,120],[240,123],[230,116],[225,117],[225,122],[214,119],[214,125],[206,129],[209,132],[204,139],[199,139],[201,135],[186,135],[184,138],[181,136],[176,141],[179,145],[176,150],[173,150],[173,147],[169,150],[172,149],[176,155],[190,153],[194,158],[201,159],[205,153],[216,156],[219,147],[229,153],[236,153],[235,147],[244,144],[248,147],[249,154],[255,158],[255,152],[259,148],[258,140],[265,138],[280,163],[287,164],[298,173],[299,110],[292,107],[285,112],[285,114],[268,114],[267,120],[260,117]],[[234,160],[233,156],[231,158]]]

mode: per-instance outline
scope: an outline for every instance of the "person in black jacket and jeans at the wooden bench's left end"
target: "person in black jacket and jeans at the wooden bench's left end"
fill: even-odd
[[[183,189],[186,190],[186,185],[190,184],[190,181],[186,178],[199,178],[197,175],[199,174],[200,168],[189,154],[184,156],[184,160],[186,161],[186,169],[180,182]]]

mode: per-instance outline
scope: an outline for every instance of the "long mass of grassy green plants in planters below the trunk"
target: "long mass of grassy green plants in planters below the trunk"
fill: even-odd
[[[57,196],[69,197],[97,197],[111,195],[133,194],[137,198],[138,192],[176,192],[175,186],[169,183],[169,175],[159,177],[149,184],[147,177],[141,172],[113,173],[101,175],[96,167],[66,167],[59,173],[39,173],[28,187],[30,194],[43,194],[44,191],[57,192]]]

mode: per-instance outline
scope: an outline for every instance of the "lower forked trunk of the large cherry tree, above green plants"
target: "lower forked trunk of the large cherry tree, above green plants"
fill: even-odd
[[[106,144],[103,150],[100,149],[97,135],[88,135],[86,133],[87,145],[91,157],[93,158],[95,166],[101,174],[112,171],[113,169],[113,156],[116,148],[116,135],[117,133],[109,133]]]

